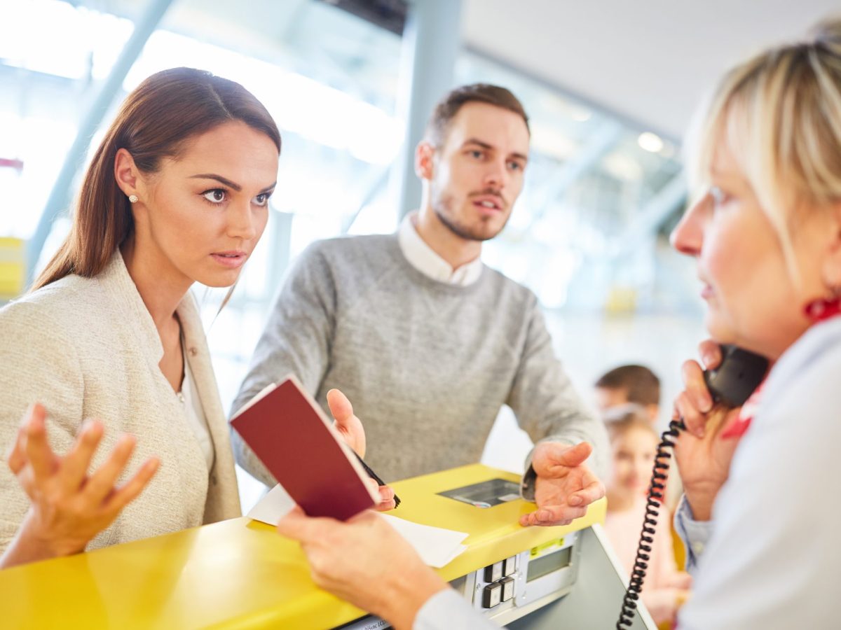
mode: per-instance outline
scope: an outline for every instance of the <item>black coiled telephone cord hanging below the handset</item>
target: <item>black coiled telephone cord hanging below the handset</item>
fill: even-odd
[[[619,621],[616,622],[616,630],[631,627],[633,623],[633,613],[637,610],[637,600],[643,591],[645,572],[648,570],[648,562],[651,560],[654,528],[657,526],[660,506],[665,501],[666,480],[669,478],[669,459],[672,458],[670,450],[674,448],[674,440],[678,437],[680,429],[683,428],[685,428],[685,425],[682,419],[672,420],[669,423],[669,428],[660,436],[657,454],[654,455],[651,483],[648,485],[643,531],[639,535],[637,556],[634,558],[633,569],[631,570],[631,581],[628,584],[627,591],[625,591],[625,597],[622,599],[622,609],[619,613]]]

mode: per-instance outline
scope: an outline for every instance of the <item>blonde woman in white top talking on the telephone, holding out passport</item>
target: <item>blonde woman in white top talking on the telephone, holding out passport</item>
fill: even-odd
[[[774,365],[721,431],[706,426],[700,366],[685,366],[681,510],[690,549],[706,549],[679,627],[837,627],[841,22],[736,67],[705,118],[703,192],[672,239],[697,260],[712,339]],[[316,581],[396,628],[494,627],[373,514],[294,513],[279,529],[302,541]]]

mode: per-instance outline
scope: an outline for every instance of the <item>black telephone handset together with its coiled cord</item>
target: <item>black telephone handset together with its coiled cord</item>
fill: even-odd
[[[768,373],[768,366],[769,361],[764,356],[748,352],[748,350],[734,345],[722,345],[722,362],[716,369],[704,372],[704,381],[706,381],[706,386],[715,404],[729,408],[741,407],[759,387],[759,384],[764,381],[765,375]],[[643,580],[648,569],[648,561],[651,559],[654,527],[657,525],[660,504],[664,501],[669,459],[671,458],[668,449],[674,446],[674,438],[677,438],[678,433],[685,428],[683,418],[672,420],[669,423],[669,428],[661,436],[657,455],[654,457],[651,483],[648,485],[648,501],[645,507],[643,531],[640,533],[637,556],[631,570],[631,581],[628,584],[625,598],[622,600],[622,609],[619,613],[619,621],[616,622],[616,630],[622,630],[623,627],[632,625],[633,612],[637,608],[639,594],[643,591]]]

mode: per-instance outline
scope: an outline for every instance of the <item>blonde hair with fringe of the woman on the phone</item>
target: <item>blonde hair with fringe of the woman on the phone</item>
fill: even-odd
[[[708,186],[716,151],[736,160],[795,278],[791,224],[841,200],[841,17],[806,42],[755,56],[722,78],[690,138],[690,185]]]

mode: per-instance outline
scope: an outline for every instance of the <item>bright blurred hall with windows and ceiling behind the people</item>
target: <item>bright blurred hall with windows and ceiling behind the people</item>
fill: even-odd
[[[526,188],[484,261],[529,286],[585,397],[605,370],[663,380],[703,339],[691,260],[668,234],[687,200],[681,139],[722,71],[801,37],[833,0],[0,0],[0,302],[69,226],[87,155],[145,76],[241,82],[283,134],[272,217],[237,287],[198,291],[225,407],[290,260],[314,239],[387,233],[419,203],[411,155],[450,87],[509,87],[532,119]],[[2,342],[0,342],[2,343]],[[363,418],[364,421],[364,418]],[[500,414],[484,461],[521,470]],[[243,507],[261,486],[242,475]]]

